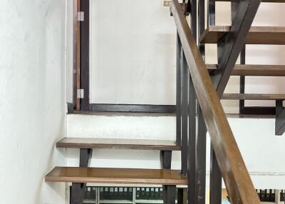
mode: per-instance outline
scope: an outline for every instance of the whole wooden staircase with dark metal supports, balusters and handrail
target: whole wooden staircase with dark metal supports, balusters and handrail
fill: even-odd
[[[284,0],[262,2],[285,3]],[[251,27],[260,0],[232,1],[232,26],[214,26],[215,1],[209,0],[207,4],[209,12],[206,15],[204,0],[171,2],[170,11],[177,26],[176,141],[61,139],[56,147],[80,149],[80,163],[78,167],[55,167],[45,180],[72,183],[72,204],[83,202],[86,183],[162,185],[164,203],[175,203],[177,185],[187,185],[188,203],[204,204],[207,131],[212,142],[210,203],[221,203],[222,178],[231,203],[260,203],[220,99],[276,101],[276,134],[284,133],[285,94],[254,94],[244,93],[244,90],[224,93],[224,88],[230,76],[285,76],[283,65],[244,64],[245,44],[285,44],[285,28]],[[190,24],[186,20],[187,14],[191,17]],[[204,29],[205,16],[207,29]],[[217,44],[217,65],[204,63],[204,44]],[[243,64],[236,65],[240,53]],[[73,108],[75,105],[73,103]],[[90,155],[97,148],[158,150],[161,169],[90,168]],[[181,151],[181,170],[171,170],[172,151]]]

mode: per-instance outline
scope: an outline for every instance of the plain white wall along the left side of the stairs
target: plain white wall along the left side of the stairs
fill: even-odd
[[[65,163],[66,1],[0,5],[1,203],[65,203],[65,185],[43,178]]]

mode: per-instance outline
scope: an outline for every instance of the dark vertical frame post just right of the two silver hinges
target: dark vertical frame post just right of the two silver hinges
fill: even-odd
[[[84,96],[81,99],[81,110],[90,110],[89,101],[89,7],[90,0],[81,1],[84,19],[81,22],[81,88]]]

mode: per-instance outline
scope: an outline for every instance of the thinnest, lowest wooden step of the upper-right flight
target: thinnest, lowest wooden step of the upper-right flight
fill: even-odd
[[[224,93],[224,100],[285,100],[285,94]]]

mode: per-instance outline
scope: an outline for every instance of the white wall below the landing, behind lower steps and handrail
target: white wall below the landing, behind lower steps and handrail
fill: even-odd
[[[68,115],[68,137],[145,138],[175,140],[174,116],[78,116]],[[229,118],[229,124],[256,188],[284,188],[284,136],[274,136],[273,118]],[[209,170],[209,136],[207,136]],[[67,164],[78,166],[78,150],[68,149]],[[159,151],[94,150],[91,166],[160,168]],[[180,152],[172,157],[180,169]]]

